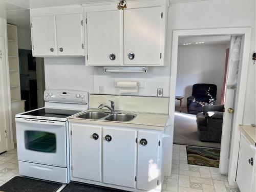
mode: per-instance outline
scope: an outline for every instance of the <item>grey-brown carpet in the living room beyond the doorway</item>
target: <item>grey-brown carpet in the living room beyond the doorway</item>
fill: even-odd
[[[181,113],[178,109],[175,111],[174,143],[213,148],[221,147],[220,143],[202,142],[198,139],[196,115],[186,113],[185,108],[182,108]]]

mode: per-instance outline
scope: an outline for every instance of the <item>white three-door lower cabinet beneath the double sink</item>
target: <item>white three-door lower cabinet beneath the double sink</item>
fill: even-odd
[[[161,131],[70,122],[71,180],[161,191]]]

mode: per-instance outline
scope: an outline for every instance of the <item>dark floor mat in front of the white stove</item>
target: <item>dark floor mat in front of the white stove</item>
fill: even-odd
[[[41,181],[26,177],[14,177],[4,185],[0,191],[5,192],[55,192],[62,184],[49,181]]]

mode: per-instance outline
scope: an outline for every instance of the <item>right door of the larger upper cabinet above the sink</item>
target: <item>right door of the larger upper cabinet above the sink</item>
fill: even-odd
[[[124,10],[124,65],[160,65],[161,6]]]

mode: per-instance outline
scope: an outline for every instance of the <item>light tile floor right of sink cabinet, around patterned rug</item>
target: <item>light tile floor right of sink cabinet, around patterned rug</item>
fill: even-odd
[[[238,192],[229,186],[219,168],[187,164],[185,145],[174,144],[172,175],[165,177],[163,192]]]

